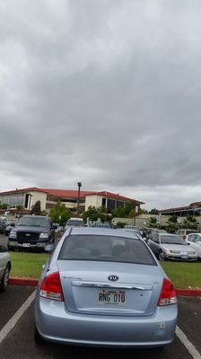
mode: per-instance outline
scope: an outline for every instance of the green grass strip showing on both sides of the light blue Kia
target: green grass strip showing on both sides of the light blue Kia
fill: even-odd
[[[11,276],[39,278],[47,253],[10,252]],[[201,288],[201,262],[162,262],[162,267],[177,288]]]

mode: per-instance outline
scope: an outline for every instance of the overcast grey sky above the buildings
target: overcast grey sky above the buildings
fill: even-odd
[[[0,3],[0,191],[201,201],[200,0]]]

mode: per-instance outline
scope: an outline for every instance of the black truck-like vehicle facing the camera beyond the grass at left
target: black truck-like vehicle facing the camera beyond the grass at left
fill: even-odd
[[[50,219],[43,215],[23,215],[9,234],[8,249],[43,249],[54,243],[55,229]]]

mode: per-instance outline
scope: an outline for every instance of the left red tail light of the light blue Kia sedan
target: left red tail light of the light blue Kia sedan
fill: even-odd
[[[58,272],[46,276],[40,286],[40,297],[64,302],[60,276]]]

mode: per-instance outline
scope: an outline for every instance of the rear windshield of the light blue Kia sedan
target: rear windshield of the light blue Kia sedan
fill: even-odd
[[[60,251],[58,259],[98,260],[137,263],[156,266],[143,241],[99,235],[71,235]]]

